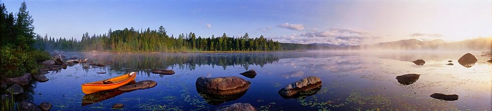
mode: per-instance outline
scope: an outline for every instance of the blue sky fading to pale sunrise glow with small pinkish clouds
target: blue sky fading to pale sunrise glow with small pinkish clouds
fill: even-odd
[[[17,12],[21,0],[2,0]],[[35,32],[80,39],[125,27],[202,37],[248,34],[285,43],[374,44],[492,36],[492,1],[27,0]]]

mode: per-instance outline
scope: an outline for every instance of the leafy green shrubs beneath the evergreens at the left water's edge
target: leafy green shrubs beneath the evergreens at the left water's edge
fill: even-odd
[[[17,50],[7,46],[0,49],[0,73],[1,77],[18,77],[25,72],[35,72],[39,64],[36,61],[44,61],[49,56],[46,52],[38,50]]]

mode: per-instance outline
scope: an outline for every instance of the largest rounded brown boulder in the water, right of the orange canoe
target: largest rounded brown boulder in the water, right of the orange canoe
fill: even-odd
[[[236,76],[216,78],[199,77],[195,82],[196,90],[214,95],[240,93],[249,89],[250,84],[251,82]]]

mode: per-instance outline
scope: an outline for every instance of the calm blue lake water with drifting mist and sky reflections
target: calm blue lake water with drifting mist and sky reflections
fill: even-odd
[[[249,103],[258,110],[472,110],[490,111],[492,64],[474,54],[478,63],[466,68],[458,63],[465,51],[309,51],[268,53],[65,53],[67,58],[89,58],[106,67],[84,69],[77,64],[46,74],[50,80],[25,88],[17,98],[35,104],[51,102],[57,110],[110,110],[123,103],[124,110],[214,110],[233,103]],[[423,59],[425,65],[411,61]],[[452,60],[453,66],[447,61]],[[151,73],[168,68],[174,75]],[[239,73],[254,69],[255,78]],[[83,103],[81,84],[138,72],[135,81],[153,80],[157,86],[131,92],[107,91],[106,98]],[[97,74],[96,72],[107,72]],[[413,84],[402,85],[396,76],[421,74]],[[238,76],[251,82],[244,94],[217,98],[197,92],[198,77]],[[278,90],[307,76],[318,76],[322,87],[293,98]],[[458,94],[457,101],[431,98],[432,93]],[[102,96],[104,96],[104,94]],[[111,97],[114,96],[114,97]],[[105,99],[105,100],[104,100]]]

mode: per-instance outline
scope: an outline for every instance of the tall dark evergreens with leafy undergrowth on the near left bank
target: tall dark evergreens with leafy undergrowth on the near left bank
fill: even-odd
[[[33,22],[26,2],[21,3],[15,15],[7,11],[5,4],[0,4],[0,78],[36,73],[38,63],[50,59],[46,51],[32,48]]]

